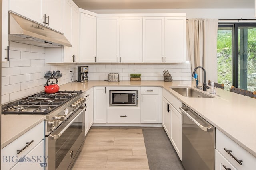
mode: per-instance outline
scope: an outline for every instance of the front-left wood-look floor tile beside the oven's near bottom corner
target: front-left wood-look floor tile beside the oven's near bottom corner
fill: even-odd
[[[108,155],[85,155],[79,154],[74,168],[105,168]]]

